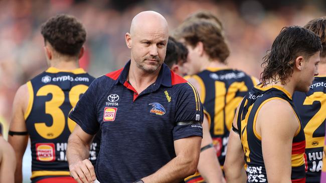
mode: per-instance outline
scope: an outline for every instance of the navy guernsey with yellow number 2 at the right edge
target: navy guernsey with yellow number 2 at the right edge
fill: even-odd
[[[315,76],[307,93],[294,92],[293,102],[305,134],[306,182],[319,182],[325,138],[326,76]]]

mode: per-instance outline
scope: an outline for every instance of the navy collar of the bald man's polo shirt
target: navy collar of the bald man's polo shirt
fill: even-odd
[[[116,79],[114,84],[124,84],[124,82],[127,80],[129,69],[130,69],[130,60],[124,65],[121,73],[119,74],[119,77]],[[169,66],[165,63],[162,64],[158,76],[155,81],[155,85],[159,87],[160,85],[164,85],[167,87],[172,86],[172,78],[171,78],[171,70]]]

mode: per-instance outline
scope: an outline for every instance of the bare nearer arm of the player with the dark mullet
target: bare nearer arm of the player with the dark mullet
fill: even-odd
[[[256,130],[270,183],[291,182],[292,140],[299,121],[290,104],[281,99],[266,102],[258,112]]]

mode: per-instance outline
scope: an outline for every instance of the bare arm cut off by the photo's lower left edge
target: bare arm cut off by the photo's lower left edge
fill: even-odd
[[[0,136],[0,182],[14,182],[16,157],[13,147]]]

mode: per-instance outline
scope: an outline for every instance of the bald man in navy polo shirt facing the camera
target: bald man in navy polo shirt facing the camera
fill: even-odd
[[[168,37],[161,14],[137,14],[125,34],[130,60],[95,79],[70,113],[67,159],[78,182],[184,182],[196,171],[203,108],[194,86],[163,63]],[[94,170],[87,158],[99,129]]]

